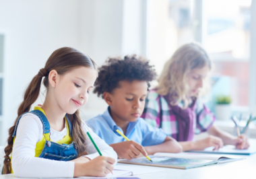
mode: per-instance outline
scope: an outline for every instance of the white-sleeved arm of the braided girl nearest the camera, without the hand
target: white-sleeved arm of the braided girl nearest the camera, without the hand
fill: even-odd
[[[18,124],[11,166],[23,178],[73,178],[74,162],[34,157],[36,143],[42,138],[42,122],[34,114],[24,114]],[[46,172],[47,171],[47,172]]]

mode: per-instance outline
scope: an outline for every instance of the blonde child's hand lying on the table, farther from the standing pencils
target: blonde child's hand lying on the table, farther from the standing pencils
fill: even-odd
[[[195,145],[194,149],[196,150],[203,150],[207,147],[214,147],[214,150],[218,150],[221,147],[223,147],[223,141],[222,139],[220,139],[220,137],[210,135],[205,139],[195,141],[194,145]]]

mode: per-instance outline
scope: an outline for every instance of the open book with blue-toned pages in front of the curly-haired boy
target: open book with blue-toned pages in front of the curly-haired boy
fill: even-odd
[[[168,153],[167,153],[168,154]],[[173,154],[173,153],[172,153]],[[136,159],[123,159],[119,161],[119,163],[123,164],[137,164],[143,166],[156,166],[156,167],[164,167],[164,168],[178,168],[178,169],[189,169],[189,168],[197,168],[201,166],[207,166],[212,164],[219,164],[225,162],[231,162],[238,159],[197,159],[197,158],[187,158],[187,157],[170,157],[170,156],[159,156],[158,155],[150,155],[149,156],[153,163],[150,162],[146,157],[139,157]],[[239,158],[243,159],[243,158]]]

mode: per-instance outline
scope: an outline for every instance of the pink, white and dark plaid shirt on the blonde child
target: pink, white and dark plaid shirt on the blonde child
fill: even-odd
[[[195,134],[199,134],[210,129],[216,118],[199,100],[197,100],[195,105],[193,129]],[[164,96],[157,94],[156,90],[152,89],[146,98],[146,104],[141,118],[144,118],[146,122],[153,127],[160,127],[160,110],[162,110],[162,130],[167,135],[177,140],[177,136],[180,132],[178,131],[177,116],[175,116]]]

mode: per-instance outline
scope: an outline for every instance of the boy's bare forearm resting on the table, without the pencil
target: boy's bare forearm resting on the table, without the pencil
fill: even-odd
[[[156,152],[179,153],[183,150],[181,145],[169,136],[159,145],[146,146],[144,148],[148,155],[153,155]]]

